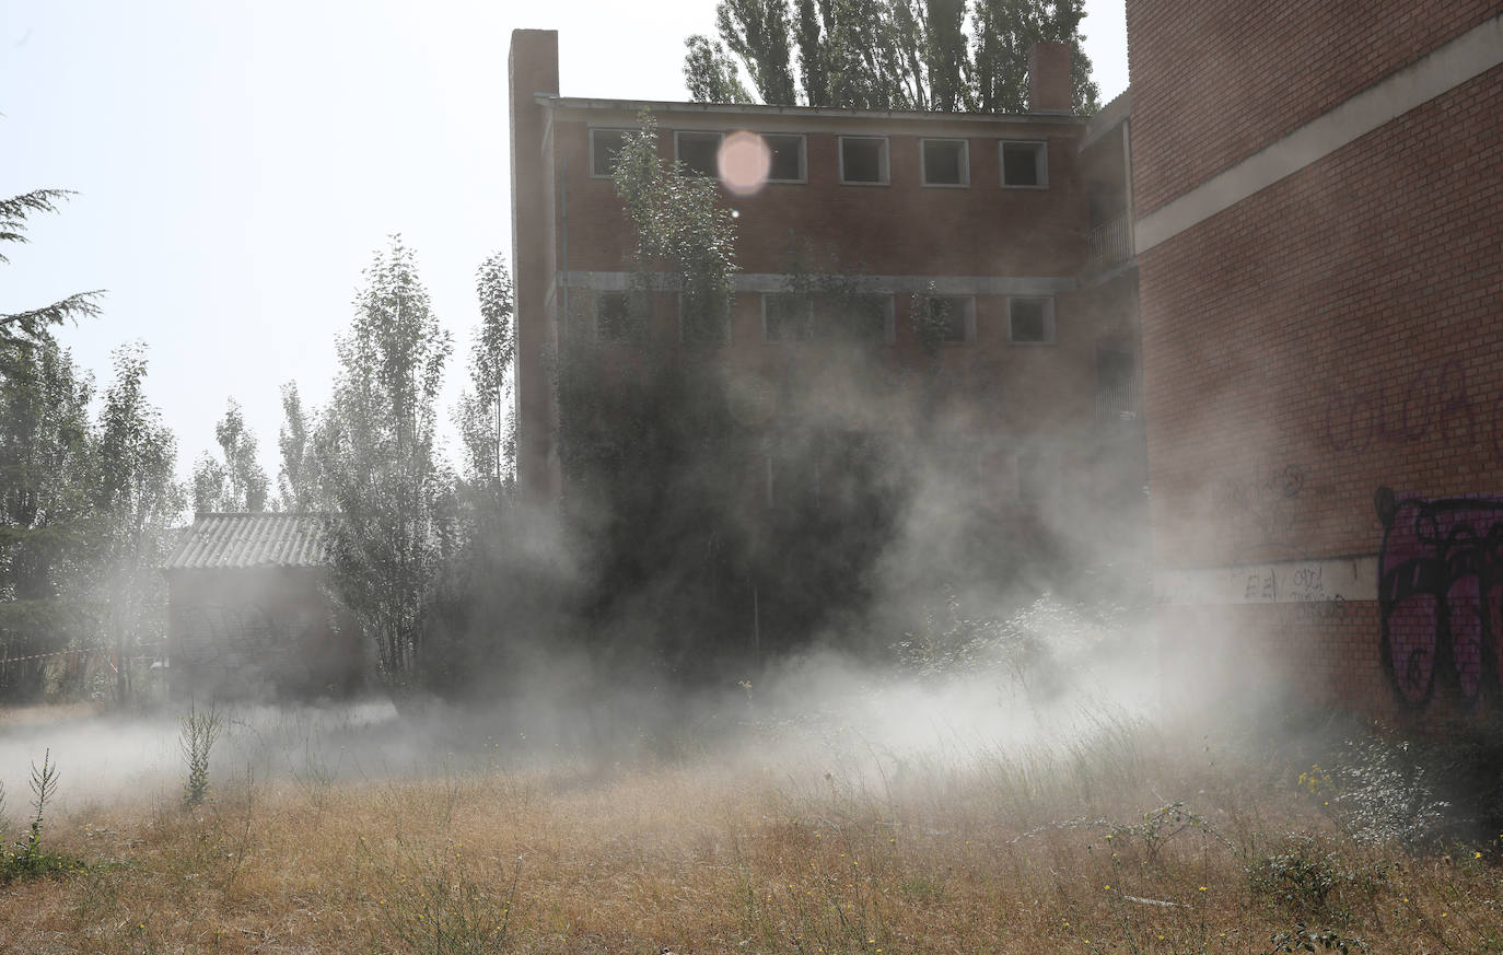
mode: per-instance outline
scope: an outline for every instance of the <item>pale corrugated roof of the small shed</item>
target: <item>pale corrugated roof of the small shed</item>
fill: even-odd
[[[162,570],[319,567],[322,514],[197,514]]]

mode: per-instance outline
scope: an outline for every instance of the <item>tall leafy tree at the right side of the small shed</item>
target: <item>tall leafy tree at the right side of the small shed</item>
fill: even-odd
[[[454,537],[452,477],[434,459],[449,335],[412,251],[392,236],[365,269],[325,414],[323,474],[337,508],[325,523],[334,591],[376,647],[391,690],[415,687]]]

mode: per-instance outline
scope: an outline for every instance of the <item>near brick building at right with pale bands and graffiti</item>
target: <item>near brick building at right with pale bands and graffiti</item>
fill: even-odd
[[[1129,0],[1127,26],[1166,659],[1380,713],[1495,698],[1497,3]]]

